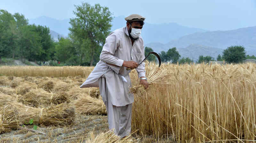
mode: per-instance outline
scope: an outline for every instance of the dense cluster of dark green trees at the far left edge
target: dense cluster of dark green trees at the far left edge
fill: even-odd
[[[29,25],[24,15],[0,10],[1,57],[19,57],[30,61],[53,59],[54,41],[46,26]]]

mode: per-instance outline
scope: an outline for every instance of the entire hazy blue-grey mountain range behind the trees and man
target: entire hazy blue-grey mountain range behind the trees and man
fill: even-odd
[[[115,17],[111,31],[126,26],[124,16]],[[70,27],[69,19],[56,20],[45,16],[29,19],[29,24],[43,25],[51,29],[53,39],[58,35],[67,37]],[[180,26],[177,23],[145,23],[142,29],[144,45],[155,52],[167,51],[176,47],[181,57],[193,60],[200,55],[216,57],[222,55],[223,49],[233,45],[242,45],[247,54],[256,55],[256,26],[228,31],[207,31],[200,28]]]

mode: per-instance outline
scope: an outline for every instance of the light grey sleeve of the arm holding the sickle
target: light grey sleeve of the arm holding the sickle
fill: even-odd
[[[100,60],[102,62],[108,63],[108,64],[114,64],[109,65],[116,73],[119,73],[120,68],[123,65],[124,60],[119,59],[114,56],[116,49],[119,46],[119,41],[116,34],[111,33],[107,38],[106,42],[102,48],[102,51],[100,53]]]

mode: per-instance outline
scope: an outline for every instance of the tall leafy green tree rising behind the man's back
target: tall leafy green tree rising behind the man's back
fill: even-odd
[[[81,62],[86,58],[85,56],[90,56],[92,66],[98,54],[97,51],[101,51],[110,33],[112,13],[108,7],[102,7],[100,4],[91,6],[88,3],[82,3],[75,7],[76,10],[73,13],[76,18],[70,19],[69,22],[70,37],[78,44],[76,50],[82,59]]]

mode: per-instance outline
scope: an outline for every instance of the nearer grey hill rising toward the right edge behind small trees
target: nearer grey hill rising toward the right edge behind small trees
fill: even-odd
[[[195,33],[183,36],[177,40],[171,40],[167,44],[149,43],[146,46],[159,53],[176,47],[181,56],[198,59],[203,56],[214,56],[222,54],[223,49],[229,46],[242,45],[249,55],[256,55],[256,26],[240,28],[228,31],[212,31]],[[190,54],[189,52],[190,51]]]

